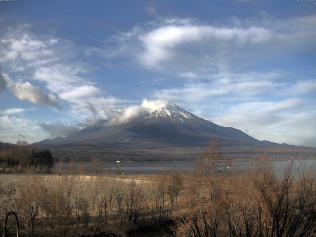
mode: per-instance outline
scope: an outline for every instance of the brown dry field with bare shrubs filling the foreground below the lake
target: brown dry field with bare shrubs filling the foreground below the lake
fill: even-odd
[[[316,178],[303,163],[276,175],[261,157],[246,173],[218,174],[220,159],[215,141],[195,173],[1,175],[0,224],[13,210],[23,236],[316,236]]]

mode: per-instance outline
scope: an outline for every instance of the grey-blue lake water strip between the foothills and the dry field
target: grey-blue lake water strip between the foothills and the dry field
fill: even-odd
[[[97,165],[93,163],[80,163],[77,164],[77,168],[81,168],[86,174],[94,174],[95,169],[100,174],[158,174],[158,173],[170,173],[172,171],[190,172],[194,171],[199,161],[153,161],[153,162],[102,162]],[[304,170],[311,170],[316,172],[316,160],[315,159],[281,159],[273,160],[273,167],[276,173],[280,173],[285,167],[293,165],[295,169],[300,168]],[[231,171],[246,171],[252,169],[255,163],[251,160],[238,160],[230,161],[230,164],[222,162],[218,165],[220,172],[227,172],[228,166]]]

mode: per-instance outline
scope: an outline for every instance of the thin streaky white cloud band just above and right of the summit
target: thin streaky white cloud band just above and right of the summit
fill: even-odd
[[[189,78],[182,87],[156,90],[154,96],[169,98],[175,101],[205,102],[206,100],[247,100],[247,98],[272,90],[282,88],[283,84],[276,82],[280,73],[247,72],[235,73],[229,71],[211,73],[184,73],[181,77]],[[194,83],[191,82],[194,78]],[[201,82],[203,80],[203,82]]]

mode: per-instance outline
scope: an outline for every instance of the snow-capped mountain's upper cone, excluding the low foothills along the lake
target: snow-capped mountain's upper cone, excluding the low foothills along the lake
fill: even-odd
[[[251,146],[262,143],[238,129],[222,127],[199,118],[169,101],[153,113],[134,118],[127,123],[100,121],[68,137],[44,140],[39,144],[63,145],[80,142],[145,149],[204,147],[212,139],[221,141],[223,146]]]

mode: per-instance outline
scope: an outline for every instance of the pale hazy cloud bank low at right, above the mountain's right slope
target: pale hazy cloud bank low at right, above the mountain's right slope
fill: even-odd
[[[230,106],[211,117],[221,126],[247,129],[259,140],[315,146],[316,110],[298,98],[281,101],[249,102]]]

